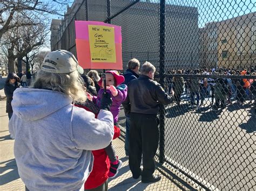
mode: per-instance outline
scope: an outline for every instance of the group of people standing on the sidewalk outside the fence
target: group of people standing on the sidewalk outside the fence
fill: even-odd
[[[26,190],[107,190],[108,180],[122,167],[111,144],[120,136],[122,104],[124,149],[132,177],[142,176],[143,183],[159,181],[161,177],[153,175],[157,114],[159,104],[172,103],[175,93],[165,93],[153,80],[155,72],[150,62],[140,67],[132,59],[124,74],[116,70],[102,77],[96,70],[84,74],[72,53],[58,50],[45,56],[31,84],[24,84],[24,74],[10,73],[4,87],[6,112]]]

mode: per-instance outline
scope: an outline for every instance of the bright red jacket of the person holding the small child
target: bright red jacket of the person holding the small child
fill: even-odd
[[[76,105],[79,108],[84,108],[87,111],[90,111],[89,108],[84,107],[83,105]],[[95,115],[97,117],[97,114]],[[120,129],[114,125],[114,137],[116,139],[120,136]],[[105,149],[100,149],[96,151],[92,151],[94,160],[93,160],[93,167],[92,172],[90,173],[89,177],[87,178],[84,189],[93,189],[97,188],[98,186],[102,185],[109,176],[109,168],[110,168],[110,161],[109,157],[107,156]]]

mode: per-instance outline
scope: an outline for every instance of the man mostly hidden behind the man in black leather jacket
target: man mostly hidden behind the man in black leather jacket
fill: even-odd
[[[124,72],[124,83],[128,86],[130,81],[137,79],[139,77],[139,60],[133,58],[128,62],[128,69]],[[127,113],[126,110],[125,112],[125,117],[126,117],[126,122],[125,122],[125,128],[126,128],[126,133],[125,133],[125,155],[126,158],[129,157],[129,134],[130,134],[130,114]]]

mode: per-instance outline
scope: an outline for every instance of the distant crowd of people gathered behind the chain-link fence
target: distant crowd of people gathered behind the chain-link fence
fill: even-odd
[[[250,76],[255,76],[254,68],[243,70],[232,69],[194,69],[194,70],[171,70],[169,74],[174,75],[169,80],[169,92],[174,89],[176,92],[175,100],[180,106],[181,95],[190,100],[192,108],[204,107],[205,99],[210,97],[212,109],[224,109],[226,105],[232,104],[233,100],[242,105],[246,99],[252,102],[256,97],[256,80]],[[183,77],[178,74],[185,74]],[[186,76],[187,75],[187,76]],[[204,75],[204,77],[200,77]],[[205,75],[221,75],[224,77],[215,78],[207,77]],[[242,77],[231,77],[232,75],[239,75]],[[246,77],[243,77],[247,75]],[[196,97],[196,102],[195,102]]]

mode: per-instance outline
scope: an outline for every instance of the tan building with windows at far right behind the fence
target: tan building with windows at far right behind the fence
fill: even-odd
[[[255,22],[256,12],[252,12],[221,22],[207,23],[200,29],[200,67],[256,67]]]

